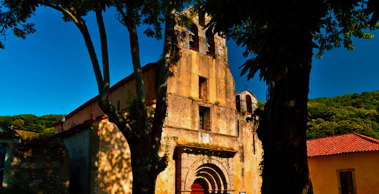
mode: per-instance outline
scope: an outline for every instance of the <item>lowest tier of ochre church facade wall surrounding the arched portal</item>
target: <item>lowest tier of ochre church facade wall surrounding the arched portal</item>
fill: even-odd
[[[236,122],[236,120],[234,120]],[[190,166],[196,162],[208,162],[212,163],[212,159],[215,159],[214,163],[222,169],[228,168],[228,173],[224,173],[225,176],[229,175],[233,184],[228,188],[228,194],[239,194],[239,192],[246,192],[248,194],[260,194],[261,178],[259,177],[259,162],[261,161],[262,148],[257,135],[255,134],[256,127],[253,123],[247,123],[242,118],[238,121],[238,127],[235,128],[236,135],[225,135],[221,133],[215,133],[197,129],[183,129],[166,126],[163,130],[161,140],[162,145],[168,144],[170,146],[170,162],[169,166],[161,172],[156,181],[155,193],[156,194],[175,194],[178,189],[175,190],[179,181],[181,181],[180,187],[184,187],[184,181],[187,174],[190,172]],[[237,134],[238,133],[238,134]],[[176,141],[172,140],[172,137],[177,137]],[[167,141],[167,138],[169,141]],[[232,158],[209,156],[207,153],[183,153],[181,157],[177,157],[174,160],[175,153],[174,148],[176,145],[186,145],[188,143],[209,144],[219,147],[231,148],[237,151],[236,155]],[[163,151],[161,152],[163,155]],[[177,168],[181,164],[181,168]],[[222,165],[221,165],[222,164]],[[176,166],[176,167],[175,167]],[[178,175],[179,173],[179,175]],[[184,177],[183,177],[184,176]],[[174,179],[173,177],[179,178]],[[193,181],[193,179],[191,179]],[[189,181],[189,180],[188,180]],[[191,183],[186,183],[188,184]],[[184,189],[184,190],[183,190]],[[187,188],[188,189],[188,188]],[[187,191],[186,187],[180,189],[180,191]],[[187,194],[186,192],[182,192]]]

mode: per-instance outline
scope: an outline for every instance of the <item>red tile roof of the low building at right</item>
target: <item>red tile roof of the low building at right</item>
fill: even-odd
[[[307,140],[308,157],[362,151],[379,151],[379,140],[358,133]]]

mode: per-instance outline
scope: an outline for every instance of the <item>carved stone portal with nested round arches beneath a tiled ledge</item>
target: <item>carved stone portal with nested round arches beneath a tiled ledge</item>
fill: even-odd
[[[207,183],[209,194],[230,194],[234,191],[232,159],[236,154],[230,150],[184,146],[177,150],[176,194],[189,194],[196,179]]]

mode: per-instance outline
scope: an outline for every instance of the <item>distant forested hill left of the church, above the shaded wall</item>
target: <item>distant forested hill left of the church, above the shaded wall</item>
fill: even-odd
[[[19,114],[14,116],[0,116],[0,123],[13,129],[27,129],[37,132],[52,128],[52,123],[60,119],[59,115],[49,114],[35,116],[34,114]]]

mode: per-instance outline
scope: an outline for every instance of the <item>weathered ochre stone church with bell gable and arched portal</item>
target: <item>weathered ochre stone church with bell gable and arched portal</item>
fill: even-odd
[[[204,29],[199,14],[190,29],[177,27],[179,62],[168,79],[162,154],[169,165],[157,178],[156,194],[258,194],[262,149],[252,122],[257,108],[250,91],[237,94],[225,39]],[[154,109],[159,64],[143,68],[145,93]],[[109,100],[125,112],[134,75],[110,88]],[[242,112],[242,114],[241,114]],[[246,113],[246,115],[243,115]],[[132,171],[125,138],[94,97],[53,124],[69,150],[70,190],[80,194],[130,194]]]

